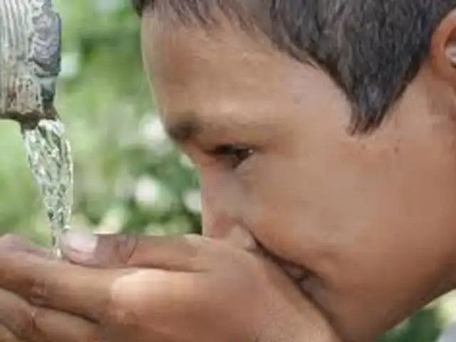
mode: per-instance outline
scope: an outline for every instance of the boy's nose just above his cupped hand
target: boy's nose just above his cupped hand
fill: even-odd
[[[246,227],[242,191],[229,175],[210,172],[200,176],[202,234],[242,249],[254,249],[255,239]]]

